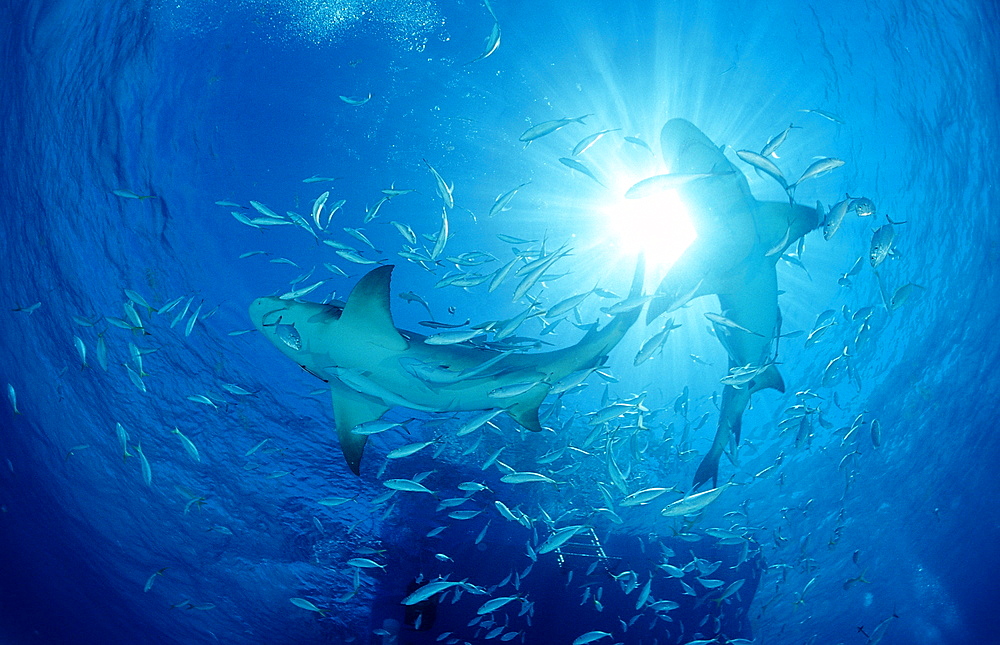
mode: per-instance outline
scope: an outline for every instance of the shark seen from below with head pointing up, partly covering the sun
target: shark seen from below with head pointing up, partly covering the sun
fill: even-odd
[[[724,386],[715,440],[694,476],[697,490],[709,480],[718,484],[719,458],[730,441],[739,444],[750,396],[767,388],[785,391],[772,354],[781,326],[775,265],[789,246],[819,226],[820,217],[814,208],[754,199],[746,177],[722,149],[684,119],[663,126],[660,147],[670,173],[698,177],[677,188],[698,238],[663,278],[647,321],[714,294],[726,319],[715,324],[715,332],[729,368],[749,366],[746,371],[753,374]]]

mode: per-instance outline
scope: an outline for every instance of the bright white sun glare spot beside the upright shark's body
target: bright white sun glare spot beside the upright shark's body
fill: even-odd
[[[625,199],[607,212],[609,233],[623,255],[645,253],[647,272],[660,275],[697,239],[684,202],[675,191]]]

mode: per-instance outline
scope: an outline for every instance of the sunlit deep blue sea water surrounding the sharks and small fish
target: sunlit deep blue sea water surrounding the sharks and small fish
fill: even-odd
[[[513,634],[518,643],[571,643],[591,630],[610,632],[604,643],[723,633],[755,643],[996,638],[995,4],[496,0],[500,45],[471,63],[493,26],[478,2],[11,0],[0,11],[0,384],[13,387],[19,412],[9,399],[0,405],[4,643],[424,643],[445,631],[453,635],[440,642],[486,642],[493,625],[467,623],[487,597],[471,593],[454,603],[446,596],[430,630],[403,628],[398,640],[378,630],[387,619],[405,621],[399,600],[415,577],[451,574],[490,588],[512,572],[523,577],[520,589],[510,582],[493,596],[523,600],[486,619],[505,625],[489,642]],[[340,98],[369,94],[363,105]],[[592,116],[528,146],[518,140],[532,125],[581,115]],[[603,441],[589,446],[596,457],[536,460],[567,442],[583,445],[592,430],[583,415],[645,393],[650,430],[639,445],[614,449],[627,489],[687,490],[712,439],[725,375],[725,352],[702,316],[718,311],[714,297],[675,312],[682,326],[653,360],[633,366],[662,324],[640,323],[612,353],[608,379],[593,375],[581,390],[549,397],[543,417],[557,432],[526,433],[498,417],[499,429],[455,437],[469,415],[395,408],[387,418],[416,419],[408,434],[373,437],[360,478],[343,463],[323,384],[256,332],[231,333],[252,328],[254,298],[292,289],[313,267],[295,287],[328,280],[305,296],[316,301],[346,298],[367,270],[299,226],[256,230],[230,214],[257,216],[254,200],[308,217],[327,190],[331,204],[346,202],[321,236],[363,249],[343,231],[360,227],[381,251],[364,255],[397,265],[398,327],[430,333],[419,324],[428,318],[422,306],[396,297],[404,291],[423,296],[441,321],[523,311],[526,300],[511,300],[513,281],[494,292],[435,288],[454,264],[432,274],[396,255],[404,240],[390,221],[421,236],[440,227],[442,200],[423,160],[454,183],[445,255],[492,253],[497,262],[471,269],[485,273],[512,257],[497,234],[537,241],[525,248],[568,243],[572,254],[553,268],[565,275],[532,291],[541,306],[595,284],[624,294],[636,254],[614,226],[626,216],[620,196],[662,172],[659,131],[674,117],[731,146],[732,159],[732,150],[758,150],[794,123],[775,159],[787,175],[818,157],[846,162],[803,182],[796,200],[830,206],[849,193],[878,209],[874,219],[850,213],[830,241],[811,233],[790,258],[801,266],[779,261],[783,330],[809,333],[827,310],[837,324],[809,347],[804,336],[782,341],[787,392],[754,396],[738,465],[722,460],[722,480],[746,485],[727,489],[693,528],[658,514],[679,497],[673,492],[655,508],[617,507],[622,524],[594,514],[607,506],[602,485],[614,491],[612,503],[623,497],[609,482]],[[621,130],[580,157],[607,187],[559,162],[587,134],[611,128]],[[740,167],[758,199],[785,198],[771,178]],[[337,179],[303,182],[314,176]],[[497,195],[526,182],[509,210],[487,216]],[[390,186],[416,192],[364,223]],[[906,221],[893,256],[878,275],[865,260],[840,286],[886,215]],[[240,258],[250,251],[267,254]],[[886,300],[907,283],[919,287],[889,311]],[[154,309],[182,300],[166,314],[136,306],[145,332],[129,331],[109,322],[127,316],[125,289]],[[591,296],[580,322],[600,319],[611,302]],[[842,308],[868,306],[870,328],[859,339],[859,322]],[[536,318],[517,334],[564,347],[582,332],[564,321],[542,335]],[[144,352],[144,376],[129,376],[138,371],[130,342]],[[845,347],[849,373],[824,384]],[[685,386],[693,452],[679,449],[685,419],[675,400]],[[819,413],[810,415],[811,437],[796,440],[778,424],[807,389]],[[864,425],[845,439],[862,413]],[[124,459],[118,423],[129,435]],[[435,437],[417,455],[385,457]],[[581,467],[556,476],[558,489],[504,484],[498,468],[481,469],[502,446],[501,461],[520,470]],[[779,455],[769,474],[754,477]],[[417,493],[375,502],[386,492],[380,480],[427,471],[440,498],[464,495],[462,481],[487,484],[493,493],[461,507],[483,514],[451,519]],[[352,500],[317,504],[334,497]],[[493,500],[522,509],[532,528],[505,520]],[[553,518],[575,511],[567,517],[592,525],[611,559],[597,559],[588,576],[593,555],[560,566],[552,552],[522,575],[532,564],[525,545],[548,535],[541,509]],[[426,536],[438,526],[443,532]],[[744,558],[740,546],[705,533],[733,527],[751,538]],[[719,590],[695,583],[689,569],[684,580],[696,596],[685,596],[656,566],[664,548],[675,552],[672,564],[721,561],[714,578],[747,582],[716,603]],[[347,561],[361,556],[385,570],[362,570],[356,583]],[[639,589],[626,595],[608,562],[616,574],[634,570]],[[647,580],[656,600],[681,603],[670,622],[635,609]],[[533,612],[518,615],[531,602]],[[636,614],[623,630],[619,620]]]

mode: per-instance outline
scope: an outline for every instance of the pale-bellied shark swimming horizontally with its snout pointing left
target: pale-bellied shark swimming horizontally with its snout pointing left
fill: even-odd
[[[551,352],[500,352],[469,343],[435,345],[397,329],[389,311],[393,267],[362,277],[344,305],[258,298],[254,326],[288,358],[330,385],[340,447],[360,474],[367,437],[356,426],[401,406],[428,412],[503,410],[528,430],[542,429],[538,406],[552,385],[600,367],[638,320],[641,307],[592,327],[575,345]],[[630,297],[642,292],[640,258]]]

